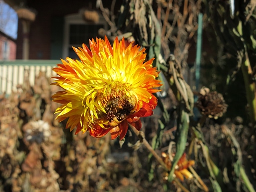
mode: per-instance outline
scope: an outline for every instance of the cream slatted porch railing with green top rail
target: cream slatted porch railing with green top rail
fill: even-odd
[[[51,77],[52,68],[60,60],[13,60],[0,61],[0,93],[9,95],[11,90],[16,91],[17,85],[22,85],[24,76],[29,75],[29,82],[34,85],[35,77],[39,71],[45,72],[46,77]]]

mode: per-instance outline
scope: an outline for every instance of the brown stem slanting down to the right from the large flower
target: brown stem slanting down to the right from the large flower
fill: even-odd
[[[153,148],[151,147],[151,145],[148,143],[148,141],[145,139],[145,135],[142,131],[138,131],[134,126],[130,125],[130,127],[132,128],[133,132],[137,135],[137,137],[140,139],[141,143],[144,144],[144,146],[150,151],[150,153],[152,153],[152,155],[157,159],[157,161],[161,164],[161,166],[163,166],[163,168],[166,171],[170,171],[168,170],[167,166],[165,165],[165,163],[163,162],[162,158],[159,157],[159,155],[157,155],[157,153],[155,152],[155,150],[153,150]],[[176,184],[182,189],[183,192],[189,192],[189,190],[187,190],[180,182],[177,178],[174,178],[174,182],[176,182]]]

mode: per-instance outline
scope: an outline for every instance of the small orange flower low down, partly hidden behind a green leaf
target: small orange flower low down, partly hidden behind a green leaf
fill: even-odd
[[[169,156],[164,152],[162,152],[162,160],[166,164],[167,169],[171,170],[171,167],[172,167],[171,160]],[[193,165],[195,165],[195,161],[193,160],[188,161],[186,159],[186,154],[184,153],[175,167],[175,171],[174,171],[175,177],[179,178],[182,182],[184,181],[184,177],[186,179],[192,179],[193,175],[188,171],[188,168]],[[166,176],[164,179],[168,180],[168,173],[166,173]]]

